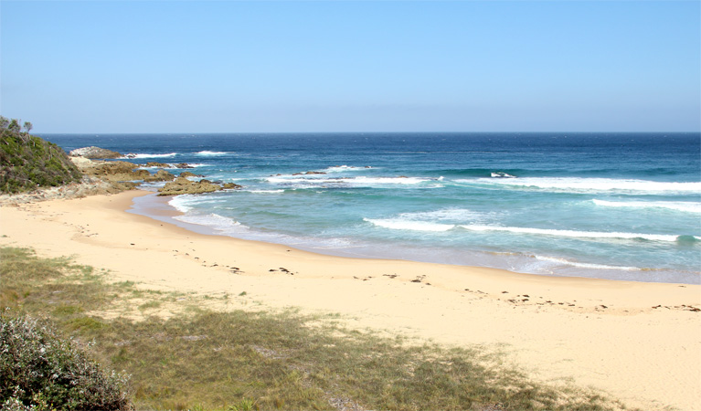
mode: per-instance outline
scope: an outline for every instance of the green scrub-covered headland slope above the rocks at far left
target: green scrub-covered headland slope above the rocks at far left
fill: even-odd
[[[29,134],[31,122],[19,123],[0,116],[0,192],[80,182],[82,174],[63,149]]]

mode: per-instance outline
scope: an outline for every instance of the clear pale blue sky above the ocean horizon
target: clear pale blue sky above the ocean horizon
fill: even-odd
[[[0,2],[35,132],[698,132],[697,1]]]

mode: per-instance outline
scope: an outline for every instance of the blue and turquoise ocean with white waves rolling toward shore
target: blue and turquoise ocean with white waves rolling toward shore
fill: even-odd
[[[699,133],[42,137],[243,185],[171,199],[181,222],[217,234],[544,275],[701,279]]]

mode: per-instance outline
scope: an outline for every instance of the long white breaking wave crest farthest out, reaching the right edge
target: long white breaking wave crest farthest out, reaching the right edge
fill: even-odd
[[[461,179],[458,183],[496,184],[513,188],[574,193],[623,192],[640,194],[694,194],[701,192],[701,182],[658,182],[648,180],[580,178],[580,177],[523,177]]]

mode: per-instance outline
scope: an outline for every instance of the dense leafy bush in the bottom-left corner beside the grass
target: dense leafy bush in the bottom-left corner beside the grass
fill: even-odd
[[[126,383],[48,323],[0,315],[0,408],[129,410]]]

